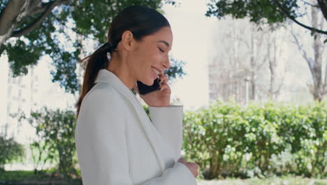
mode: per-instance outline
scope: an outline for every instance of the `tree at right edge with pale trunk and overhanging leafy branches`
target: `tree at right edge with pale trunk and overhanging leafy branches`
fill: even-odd
[[[300,8],[300,4],[304,6],[310,6],[312,10],[312,20],[310,23],[312,26],[304,25],[296,20],[303,15],[307,15],[310,12],[307,8]],[[303,11],[305,11],[303,13]],[[310,88],[314,100],[321,101],[322,97],[327,93],[327,79],[322,79],[321,71],[322,66],[322,50],[324,50],[324,43],[321,42],[322,34],[327,36],[327,31],[323,31],[321,25],[317,23],[317,15],[319,11],[322,13],[321,25],[327,20],[327,1],[305,1],[305,0],[261,0],[261,1],[218,1],[211,0],[208,4],[208,11],[205,15],[215,15],[217,18],[224,18],[226,15],[231,15],[233,18],[242,19],[249,18],[250,22],[256,23],[256,25],[270,25],[274,27],[276,25],[283,25],[287,19],[291,19],[296,24],[305,29],[310,29],[314,38],[314,59],[307,63],[312,73],[312,79],[314,85]],[[327,39],[325,40],[325,42]],[[297,42],[297,41],[296,41]],[[303,50],[300,48],[301,52]],[[305,54],[303,54],[305,55]],[[270,66],[273,67],[273,63],[270,62]],[[327,64],[326,64],[327,73]],[[326,75],[325,75],[326,76]]]

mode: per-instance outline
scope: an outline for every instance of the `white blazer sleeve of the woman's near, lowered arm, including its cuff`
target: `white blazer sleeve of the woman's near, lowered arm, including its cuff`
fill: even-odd
[[[84,185],[132,185],[126,146],[124,109],[119,98],[93,93],[83,100],[75,144]],[[106,97],[106,98],[104,98]],[[109,98],[108,98],[109,97]],[[84,102],[85,101],[85,102]],[[120,106],[120,107],[119,107]],[[183,163],[175,163],[160,177],[140,185],[194,185],[196,179]]]

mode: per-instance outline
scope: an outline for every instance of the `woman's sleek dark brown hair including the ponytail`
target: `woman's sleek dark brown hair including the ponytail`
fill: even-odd
[[[82,59],[82,61],[87,60],[87,67],[81,94],[75,104],[77,115],[80,112],[83,98],[94,86],[99,70],[106,69],[109,65],[107,53],[117,52],[115,49],[122,40],[122,34],[129,30],[133,33],[134,39],[141,41],[144,36],[154,34],[163,27],[170,27],[168,20],[161,13],[146,6],[129,6],[116,15],[109,28],[107,43],[94,51],[92,55]]]

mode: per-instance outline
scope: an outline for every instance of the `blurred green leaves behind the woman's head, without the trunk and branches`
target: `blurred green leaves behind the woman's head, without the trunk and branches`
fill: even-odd
[[[28,67],[38,64],[38,60],[43,55],[50,56],[54,66],[51,71],[52,81],[59,82],[66,92],[75,93],[80,89],[76,74],[80,57],[91,54],[85,53],[86,46],[82,45],[82,41],[91,39],[98,45],[106,42],[110,22],[127,6],[143,5],[161,11],[163,3],[175,5],[175,1],[171,0],[69,1],[68,4],[55,7],[41,25],[29,34],[19,39],[8,39],[5,45],[0,46],[0,55],[1,53],[8,55],[13,77],[27,74]],[[6,4],[8,0],[0,1],[0,12]],[[24,18],[17,29],[27,27],[40,14]],[[183,74],[182,68],[178,66],[180,64],[169,71],[168,74],[172,78],[175,78],[175,73]]]

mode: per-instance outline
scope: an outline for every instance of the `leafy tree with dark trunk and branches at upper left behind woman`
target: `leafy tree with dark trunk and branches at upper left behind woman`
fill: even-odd
[[[109,23],[126,6],[143,5],[160,10],[171,0],[3,0],[0,2],[0,55],[8,55],[13,77],[27,74],[43,55],[52,57],[55,71],[52,81],[66,92],[79,90],[76,65],[79,64],[86,39],[99,46],[106,41]],[[170,74],[182,71],[180,63]]]

